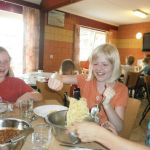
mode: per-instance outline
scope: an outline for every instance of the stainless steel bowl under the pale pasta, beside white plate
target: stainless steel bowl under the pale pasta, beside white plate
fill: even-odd
[[[72,132],[68,133],[66,128],[67,110],[50,113],[45,120],[52,126],[52,133],[55,138],[63,143],[77,144],[80,142],[77,135]]]

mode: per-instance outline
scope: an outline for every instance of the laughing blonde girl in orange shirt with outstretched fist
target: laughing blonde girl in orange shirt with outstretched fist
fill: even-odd
[[[123,128],[128,89],[124,84],[117,81],[120,77],[118,50],[111,44],[100,45],[92,51],[89,63],[88,78],[82,74],[57,74],[55,77],[49,78],[48,86],[59,91],[63,88],[63,83],[77,84],[80,88],[81,97],[87,101],[89,110],[99,105],[100,124],[110,121],[119,132]]]

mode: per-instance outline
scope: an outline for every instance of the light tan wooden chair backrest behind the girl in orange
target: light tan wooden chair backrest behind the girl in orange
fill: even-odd
[[[135,125],[137,114],[141,105],[141,101],[135,98],[129,98],[128,104],[125,110],[124,127],[120,136],[129,138],[131,131]]]

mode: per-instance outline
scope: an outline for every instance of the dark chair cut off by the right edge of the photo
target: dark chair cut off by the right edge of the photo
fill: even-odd
[[[142,117],[141,117],[141,120],[139,122],[140,125],[150,110],[150,75],[144,76],[144,82],[145,82],[145,89],[146,89],[148,104],[146,105],[146,107],[142,113]]]

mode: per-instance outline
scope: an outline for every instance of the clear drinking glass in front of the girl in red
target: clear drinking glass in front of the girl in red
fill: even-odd
[[[22,100],[19,103],[19,111],[21,119],[30,120],[33,115],[33,100]]]

